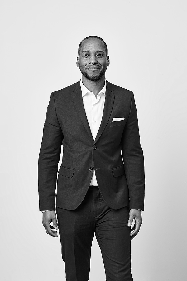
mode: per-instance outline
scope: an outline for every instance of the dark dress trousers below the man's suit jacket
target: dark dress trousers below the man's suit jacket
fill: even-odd
[[[114,210],[97,186],[90,186],[75,210],[56,207],[67,281],[88,281],[95,233],[106,280],[132,281],[129,206]],[[99,280],[102,281],[102,280]]]

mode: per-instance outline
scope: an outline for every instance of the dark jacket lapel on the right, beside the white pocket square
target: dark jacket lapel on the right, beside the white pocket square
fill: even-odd
[[[110,83],[107,82],[107,88],[106,88],[106,97],[105,97],[105,103],[104,103],[104,110],[103,110],[103,117],[101,120],[101,125],[99,127],[97,136],[95,138],[94,144],[96,141],[98,141],[99,137],[104,131],[104,128],[106,127],[108,120],[110,118],[112,108],[113,108],[113,103],[114,103],[114,97],[115,94],[113,93],[113,88],[110,85]]]

